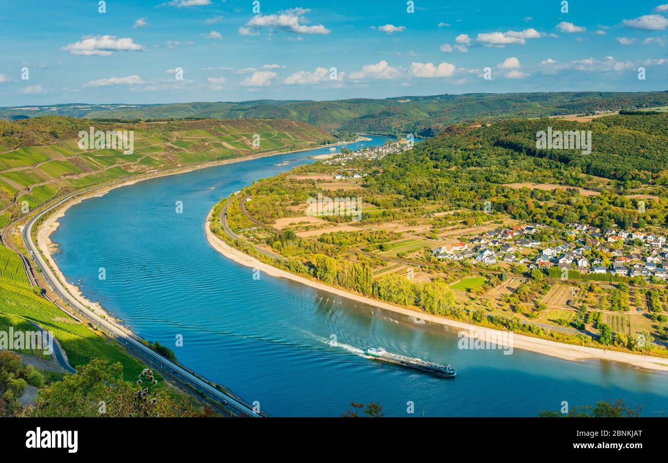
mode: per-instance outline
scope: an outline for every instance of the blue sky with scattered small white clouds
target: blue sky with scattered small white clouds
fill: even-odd
[[[662,91],[666,1],[0,0],[0,105]]]

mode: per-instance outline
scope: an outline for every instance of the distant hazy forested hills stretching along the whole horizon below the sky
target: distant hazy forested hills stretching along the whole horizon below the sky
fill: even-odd
[[[469,93],[336,101],[242,101],[174,103],[165,105],[71,105],[1,108],[0,117],[15,119],[59,114],[106,119],[292,119],[331,131],[418,133],[434,135],[451,123],[510,117],[590,114],[637,107],[668,105],[668,91],[643,93]]]

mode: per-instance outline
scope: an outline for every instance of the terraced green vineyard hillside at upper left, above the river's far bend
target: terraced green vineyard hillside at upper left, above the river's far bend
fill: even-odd
[[[91,126],[134,131],[134,152],[79,148],[78,131]],[[0,227],[19,215],[23,201],[33,208],[120,177],[331,141],[329,133],[316,127],[283,119],[110,123],[49,116],[0,121]]]

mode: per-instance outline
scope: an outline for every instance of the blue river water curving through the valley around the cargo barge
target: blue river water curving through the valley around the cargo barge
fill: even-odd
[[[384,142],[374,136],[352,148]],[[86,199],[60,220],[55,260],[84,296],[136,334],[170,346],[180,362],[273,416],[339,416],[350,402],[378,402],[388,416],[536,416],[562,401],[617,398],[641,405],[646,416],[667,410],[666,374],[522,350],[462,350],[443,326],[265,274],[254,280],[251,268],[209,246],[204,219],[220,197],[322,153],[329,149],[159,177]],[[283,161],[289,164],[277,165]],[[98,279],[101,267],[106,280]],[[458,376],[369,360],[365,346],[452,364]]]

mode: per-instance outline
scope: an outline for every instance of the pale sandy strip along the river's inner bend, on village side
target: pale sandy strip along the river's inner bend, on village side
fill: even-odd
[[[318,290],[327,291],[331,294],[336,294],[337,296],[342,296],[349,300],[356,302],[362,302],[363,304],[368,304],[369,306],[375,306],[381,309],[390,310],[391,312],[396,312],[397,314],[403,314],[405,316],[418,318],[419,320],[425,320],[428,322],[441,324],[453,328],[457,332],[465,332],[466,334],[474,333],[476,338],[484,338],[485,336],[488,339],[504,339],[504,332],[500,330],[493,330],[492,328],[484,328],[481,326],[471,325],[464,322],[458,322],[457,320],[450,320],[449,318],[444,318],[440,316],[435,316],[431,314],[426,314],[424,312],[418,312],[415,310],[410,310],[400,306],[395,306],[394,304],[389,304],[387,302],[367,298],[359,294],[354,294],[341,290],[339,288],[334,288],[328,286],[316,280],[311,280],[309,278],[304,278],[299,275],[291,274],[285,270],[275,268],[264,262],[260,262],[252,256],[248,256],[244,252],[232,248],[220,238],[215,236],[209,227],[209,219],[211,213],[206,217],[206,222],[204,223],[204,228],[206,229],[206,239],[209,244],[216,251],[220,252],[223,256],[228,259],[234,260],[238,264],[241,264],[246,267],[257,268],[261,272],[269,276],[287,278],[288,280],[293,280],[312,288]],[[507,336],[507,334],[506,334]],[[628,352],[617,352],[614,350],[602,350],[598,348],[591,348],[586,346],[572,346],[570,344],[563,344],[560,342],[554,342],[549,340],[544,340],[540,338],[532,338],[531,336],[524,336],[522,334],[514,334],[512,338],[512,348],[528,350],[531,352],[537,352],[538,354],[544,354],[552,357],[562,358],[564,360],[588,360],[588,359],[598,359],[598,360],[609,360],[612,362],[623,362],[625,364],[633,365],[637,368],[643,370],[661,370],[668,371],[668,358],[653,357],[653,356],[643,356],[639,354],[630,354]]]

